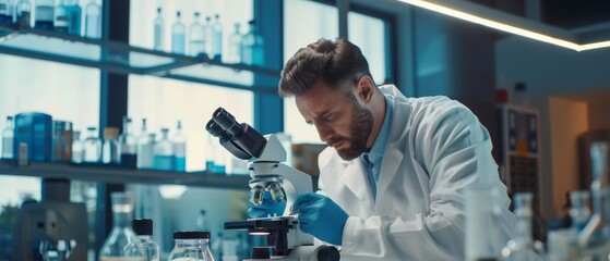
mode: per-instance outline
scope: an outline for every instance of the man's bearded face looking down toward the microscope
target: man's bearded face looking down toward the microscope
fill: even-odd
[[[367,151],[373,128],[373,114],[360,105],[354,94],[332,90],[318,80],[295,99],[299,112],[315,126],[320,139],[334,147],[344,160],[356,159]]]

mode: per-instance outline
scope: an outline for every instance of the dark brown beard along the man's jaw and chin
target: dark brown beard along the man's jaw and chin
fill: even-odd
[[[344,160],[354,160],[367,151],[367,140],[373,129],[373,113],[358,103],[356,97],[351,98],[351,123],[349,124],[350,137],[337,136],[327,140],[328,145],[347,141],[345,149],[337,149]]]

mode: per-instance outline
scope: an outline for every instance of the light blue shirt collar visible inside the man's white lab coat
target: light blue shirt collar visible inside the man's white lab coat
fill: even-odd
[[[371,148],[371,151],[362,153],[362,162],[367,167],[369,175],[369,184],[373,191],[373,198],[376,198],[376,183],[379,182],[379,174],[381,172],[381,163],[383,160],[383,152],[387,144],[387,136],[390,135],[390,119],[392,119],[392,107],[390,105],[388,98],[385,97],[385,117],[379,130],[378,137]]]

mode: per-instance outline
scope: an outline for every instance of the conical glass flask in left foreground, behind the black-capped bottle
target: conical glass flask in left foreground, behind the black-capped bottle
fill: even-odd
[[[133,196],[112,192],[112,231],[99,250],[99,261],[146,260],[130,224],[133,215]],[[135,247],[128,247],[129,245]]]

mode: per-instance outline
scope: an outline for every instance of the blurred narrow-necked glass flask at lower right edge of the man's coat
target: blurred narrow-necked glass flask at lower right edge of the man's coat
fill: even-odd
[[[517,226],[515,238],[511,239],[506,247],[502,249],[502,256],[506,261],[542,261],[538,250],[534,247],[534,239],[531,238],[533,198],[534,195],[531,192],[516,192],[513,197]]]

